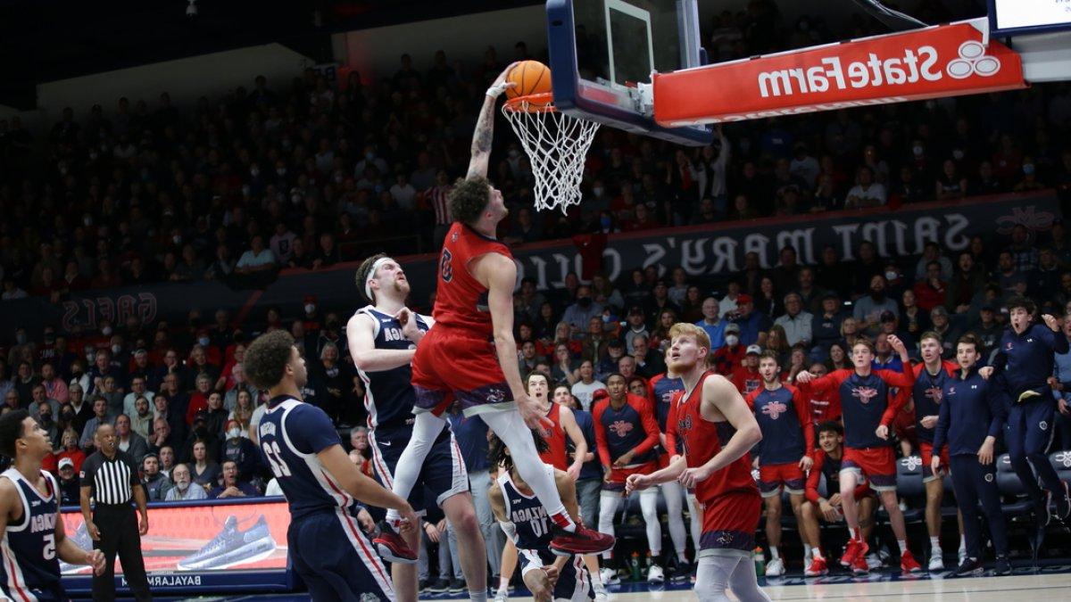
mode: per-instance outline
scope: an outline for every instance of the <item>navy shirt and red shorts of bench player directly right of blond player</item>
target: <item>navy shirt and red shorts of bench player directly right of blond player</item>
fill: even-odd
[[[806,400],[799,390],[783,385],[752,391],[745,398],[755,413],[763,441],[758,451],[758,488],[763,497],[803,494],[803,469],[799,462],[814,449],[814,425],[808,416]]]

